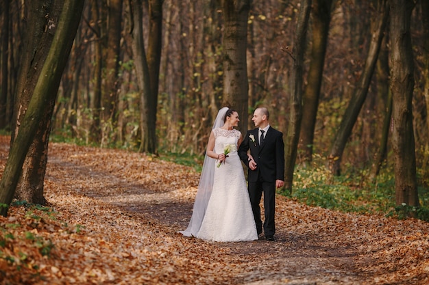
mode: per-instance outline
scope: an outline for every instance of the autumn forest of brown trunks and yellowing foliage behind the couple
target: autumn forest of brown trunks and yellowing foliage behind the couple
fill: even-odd
[[[27,143],[6,204],[11,192],[44,204],[49,139],[198,167],[221,107],[238,111],[244,133],[265,106],[284,133],[285,195],[390,183],[392,206],[427,206],[425,1],[60,2],[2,4],[0,128],[12,146],[23,129]]]

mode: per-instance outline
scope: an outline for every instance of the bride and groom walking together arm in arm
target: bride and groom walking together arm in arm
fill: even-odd
[[[184,236],[209,241],[274,241],[275,189],[284,184],[283,135],[269,125],[269,112],[258,108],[256,128],[245,137],[238,113],[224,107],[213,124],[201,171],[193,214]],[[248,167],[248,186],[241,161]],[[264,194],[265,221],[260,200]]]

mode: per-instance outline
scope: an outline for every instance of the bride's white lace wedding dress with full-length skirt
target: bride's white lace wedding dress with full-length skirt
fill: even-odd
[[[217,167],[213,180],[212,193],[208,200],[206,213],[197,232],[197,238],[209,241],[254,241],[258,239],[246,180],[237,153],[240,131],[223,128],[213,129],[215,151],[223,153],[230,148],[228,158]]]

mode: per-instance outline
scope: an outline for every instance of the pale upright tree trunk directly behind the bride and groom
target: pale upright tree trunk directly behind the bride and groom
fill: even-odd
[[[223,29],[223,107],[236,109],[247,116],[249,85],[247,82],[247,18],[250,0],[222,0]],[[247,117],[245,117],[247,118]],[[238,123],[238,129],[247,130],[247,120]]]

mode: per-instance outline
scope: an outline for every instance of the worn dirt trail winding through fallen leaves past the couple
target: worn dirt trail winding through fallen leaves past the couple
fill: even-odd
[[[101,154],[102,151],[97,150],[98,153],[93,154],[92,159],[88,159],[87,152],[88,150],[84,148],[76,148],[73,158],[67,160],[61,152],[57,153],[56,148],[53,148],[49,156],[49,167],[62,169],[62,173],[73,174],[70,178],[74,182],[86,181],[85,189],[74,188],[76,193],[120,206],[130,215],[143,214],[154,223],[162,224],[167,229],[165,234],[175,236],[177,239],[186,239],[176,232],[186,228],[188,219],[191,217],[195,187],[185,187],[185,190],[180,190],[193,191],[186,195],[181,195],[180,191],[177,193],[177,189],[171,189],[168,182],[165,183],[164,189],[162,187],[161,189],[145,188],[129,175],[130,169],[125,169],[125,165],[122,165],[119,171],[112,171],[111,167],[107,167],[107,161],[95,162],[97,157],[109,154]],[[151,164],[156,167],[154,163]],[[136,165],[137,168],[138,166]],[[49,179],[55,178],[49,177]],[[66,177],[63,176],[62,179]],[[162,183],[163,180],[160,179],[159,182]],[[195,186],[195,182],[193,183]],[[231,260],[232,264],[239,262],[246,268],[240,275],[226,280],[225,284],[364,284],[366,282],[367,278],[356,273],[355,268],[355,259],[360,255],[360,251],[348,242],[332,241],[330,232],[319,233],[317,231],[320,226],[319,220],[306,225],[304,228],[307,230],[304,232],[302,232],[302,226],[297,230],[293,223],[306,223],[302,218],[313,215],[309,213],[310,208],[306,206],[294,208],[297,206],[299,205],[294,202],[278,197],[278,217],[276,217],[278,231],[274,242],[261,240],[247,243],[209,243],[213,250],[223,249],[221,258]],[[281,213],[291,214],[291,208],[295,212],[292,213],[293,221],[289,217],[281,216]],[[326,213],[323,209],[317,211]],[[300,217],[301,214],[302,217]],[[336,213],[336,215],[341,214]],[[338,234],[341,232],[335,235]],[[196,240],[195,242],[195,246],[206,247],[207,244],[206,241]],[[222,269],[215,274],[222,275]]]

